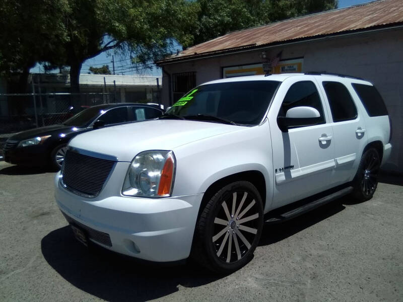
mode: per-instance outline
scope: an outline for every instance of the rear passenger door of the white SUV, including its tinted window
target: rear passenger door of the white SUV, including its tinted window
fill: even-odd
[[[366,127],[359,107],[354,102],[350,83],[335,77],[317,77],[328,104],[328,115],[333,127],[335,184],[351,181],[367,144]]]

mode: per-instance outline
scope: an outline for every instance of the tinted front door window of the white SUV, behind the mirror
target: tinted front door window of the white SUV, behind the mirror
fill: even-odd
[[[293,84],[284,98],[279,116],[286,116],[286,113],[289,109],[299,106],[309,106],[315,108],[320,114],[321,120],[319,124],[325,123],[322,102],[320,101],[318,91],[313,82],[303,81]]]

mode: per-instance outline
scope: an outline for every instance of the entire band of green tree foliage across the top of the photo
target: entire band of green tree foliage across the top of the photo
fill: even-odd
[[[0,72],[70,66],[113,50],[133,64],[161,59],[229,31],[335,8],[337,0],[3,0]],[[102,68],[102,67],[101,67]],[[95,70],[95,69],[94,69]]]

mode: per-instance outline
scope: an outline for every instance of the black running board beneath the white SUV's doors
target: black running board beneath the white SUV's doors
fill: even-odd
[[[338,199],[344,195],[350,194],[351,192],[353,192],[354,188],[353,187],[347,187],[344,189],[341,189],[337,192],[331,193],[329,195],[326,195],[324,197],[321,197],[319,199],[310,201],[308,203],[305,203],[301,206],[298,206],[296,208],[290,209],[290,207],[287,206],[287,210],[286,212],[283,213],[279,213],[278,209],[273,211],[273,214],[271,215],[271,213],[267,213],[266,216],[267,218],[265,219],[265,223],[277,223],[277,222],[283,222],[286,221],[288,219],[294,218],[296,216],[305,214],[306,212],[309,212],[321,205],[324,205],[326,203],[329,203],[335,199]],[[276,212],[276,214],[274,213]]]

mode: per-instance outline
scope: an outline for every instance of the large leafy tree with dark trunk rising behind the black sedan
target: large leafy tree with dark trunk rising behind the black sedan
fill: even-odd
[[[61,0],[58,0],[61,1]],[[130,53],[135,62],[149,62],[164,56],[171,38],[186,43],[181,29],[186,21],[184,0],[68,0],[62,19],[68,39],[61,41],[64,52],[51,61],[70,66],[72,92],[79,92],[83,61],[114,50]],[[55,55],[51,56],[56,58]]]

